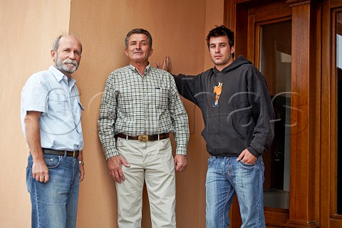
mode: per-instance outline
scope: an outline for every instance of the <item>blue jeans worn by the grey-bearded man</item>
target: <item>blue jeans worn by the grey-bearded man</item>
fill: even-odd
[[[33,179],[33,157],[28,156],[26,185],[31,195],[31,227],[76,227],[79,170],[78,158],[44,155],[47,183]]]

